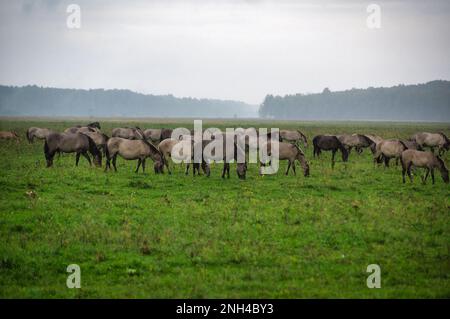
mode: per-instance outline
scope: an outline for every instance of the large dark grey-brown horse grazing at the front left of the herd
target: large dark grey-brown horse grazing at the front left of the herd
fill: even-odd
[[[45,138],[44,153],[47,160],[47,167],[53,165],[55,153],[77,153],[75,165],[78,166],[80,155],[83,155],[92,165],[88,152],[91,153],[94,164],[102,166],[102,154],[98,150],[95,142],[87,135],[81,133],[50,133]]]

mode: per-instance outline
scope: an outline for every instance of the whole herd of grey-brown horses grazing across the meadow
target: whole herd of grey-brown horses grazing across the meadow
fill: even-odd
[[[186,174],[189,172],[190,163],[193,162],[193,174],[200,174],[200,168],[206,176],[210,175],[209,162],[211,160],[223,161],[222,177],[230,176],[230,161],[236,160],[239,156],[248,155],[248,144],[250,135],[247,130],[236,130],[233,135],[234,143],[224,143],[223,152],[220,157],[204,158],[204,152],[201,152],[199,158],[194,160],[194,152],[173,152],[174,149],[180,150],[190,149],[196,146],[193,138],[172,139],[172,129],[146,129],[142,130],[139,127],[121,127],[112,130],[112,136],[109,137],[101,131],[100,123],[93,122],[88,125],[77,125],[67,128],[64,132],[55,132],[48,128],[30,127],[26,132],[26,138],[29,143],[33,143],[35,139],[44,140],[44,154],[47,161],[47,167],[53,165],[55,154],[60,153],[75,153],[75,164],[78,166],[80,156],[86,158],[90,165],[92,161],[96,166],[102,166],[102,157],[105,157],[105,171],[111,169],[111,163],[115,171],[117,171],[116,160],[117,156],[125,160],[137,160],[136,172],[142,168],[145,172],[146,160],[150,158],[153,161],[153,168],[155,173],[163,173],[164,167],[167,168],[169,174],[171,169],[169,166],[169,159],[173,154],[177,155],[178,162],[186,163]],[[254,130],[254,129],[253,129]],[[192,137],[191,134],[188,137]],[[224,133],[227,134],[227,133]],[[257,133],[258,134],[258,133]],[[269,133],[266,143],[268,155],[271,155],[271,142]],[[238,139],[242,137],[245,139],[245,149],[240,147]],[[260,135],[256,135],[258,139]],[[18,139],[19,135],[16,132],[0,132],[2,139]],[[285,172],[287,175],[292,168],[296,174],[295,162],[298,161],[303,169],[304,176],[309,176],[309,164],[306,156],[301,149],[308,147],[308,140],[305,134],[299,130],[280,130],[278,132],[277,140],[279,140],[278,151],[279,160],[288,161],[288,167]],[[210,147],[211,141],[202,140],[201,149],[204,151]],[[383,139],[377,135],[370,134],[324,134],[317,135],[312,140],[313,156],[319,157],[322,151],[330,151],[331,166],[335,166],[335,155],[340,152],[342,161],[347,162],[349,154],[354,149],[358,154],[362,153],[364,149],[369,149],[373,154],[375,163],[383,163],[389,167],[391,159],[395,159],[397,164],[401,161],[402,165],[402,179],[405,183],[405,176],[408,175],[412,181],[412,168],[424,168],[426,170],[425,176],[422,177],[422,182],[426,183],[429,175],[431,175],[432,183],[435,182],[434,171],[438,170],[445,183],[449,182],[448,169],[445,166],[441,156],[444,152],[450,149],[450,141],[443,133],[428,133],[420,132],[414,134],[407,140],[400,139]],[[426,150],[428,148],[429,150]],[[435,150],[437,149],[437,154]],[[92,156],[92,161],[89,156]],[[198,156],[198,155],[196,155]],[[174,160],[174,158],[172,158]],[[265,166],[267,162],[260,159],[260,166]],[[247,171],[247,160],[244,162],[237,161],[236,173],[239,178],[245,179]]]

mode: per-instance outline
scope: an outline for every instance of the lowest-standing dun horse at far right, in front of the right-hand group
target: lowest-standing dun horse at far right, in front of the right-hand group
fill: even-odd
[[[423,167],[427,172],[425,178],[422,177],[422,183],[425,184],[428,175],[431,172],[431,180],[434,184],[434,169],[437,168],[442,175],[442,179],[446,184],[449,182],[448,169],[445,167],[444,161],[432,152],[422,152],[417,150],[406,150],[401,155],[402,160],[402,178],[405,183],[405,173],[408,173],[409,180],[412,182],[411,167]]]

